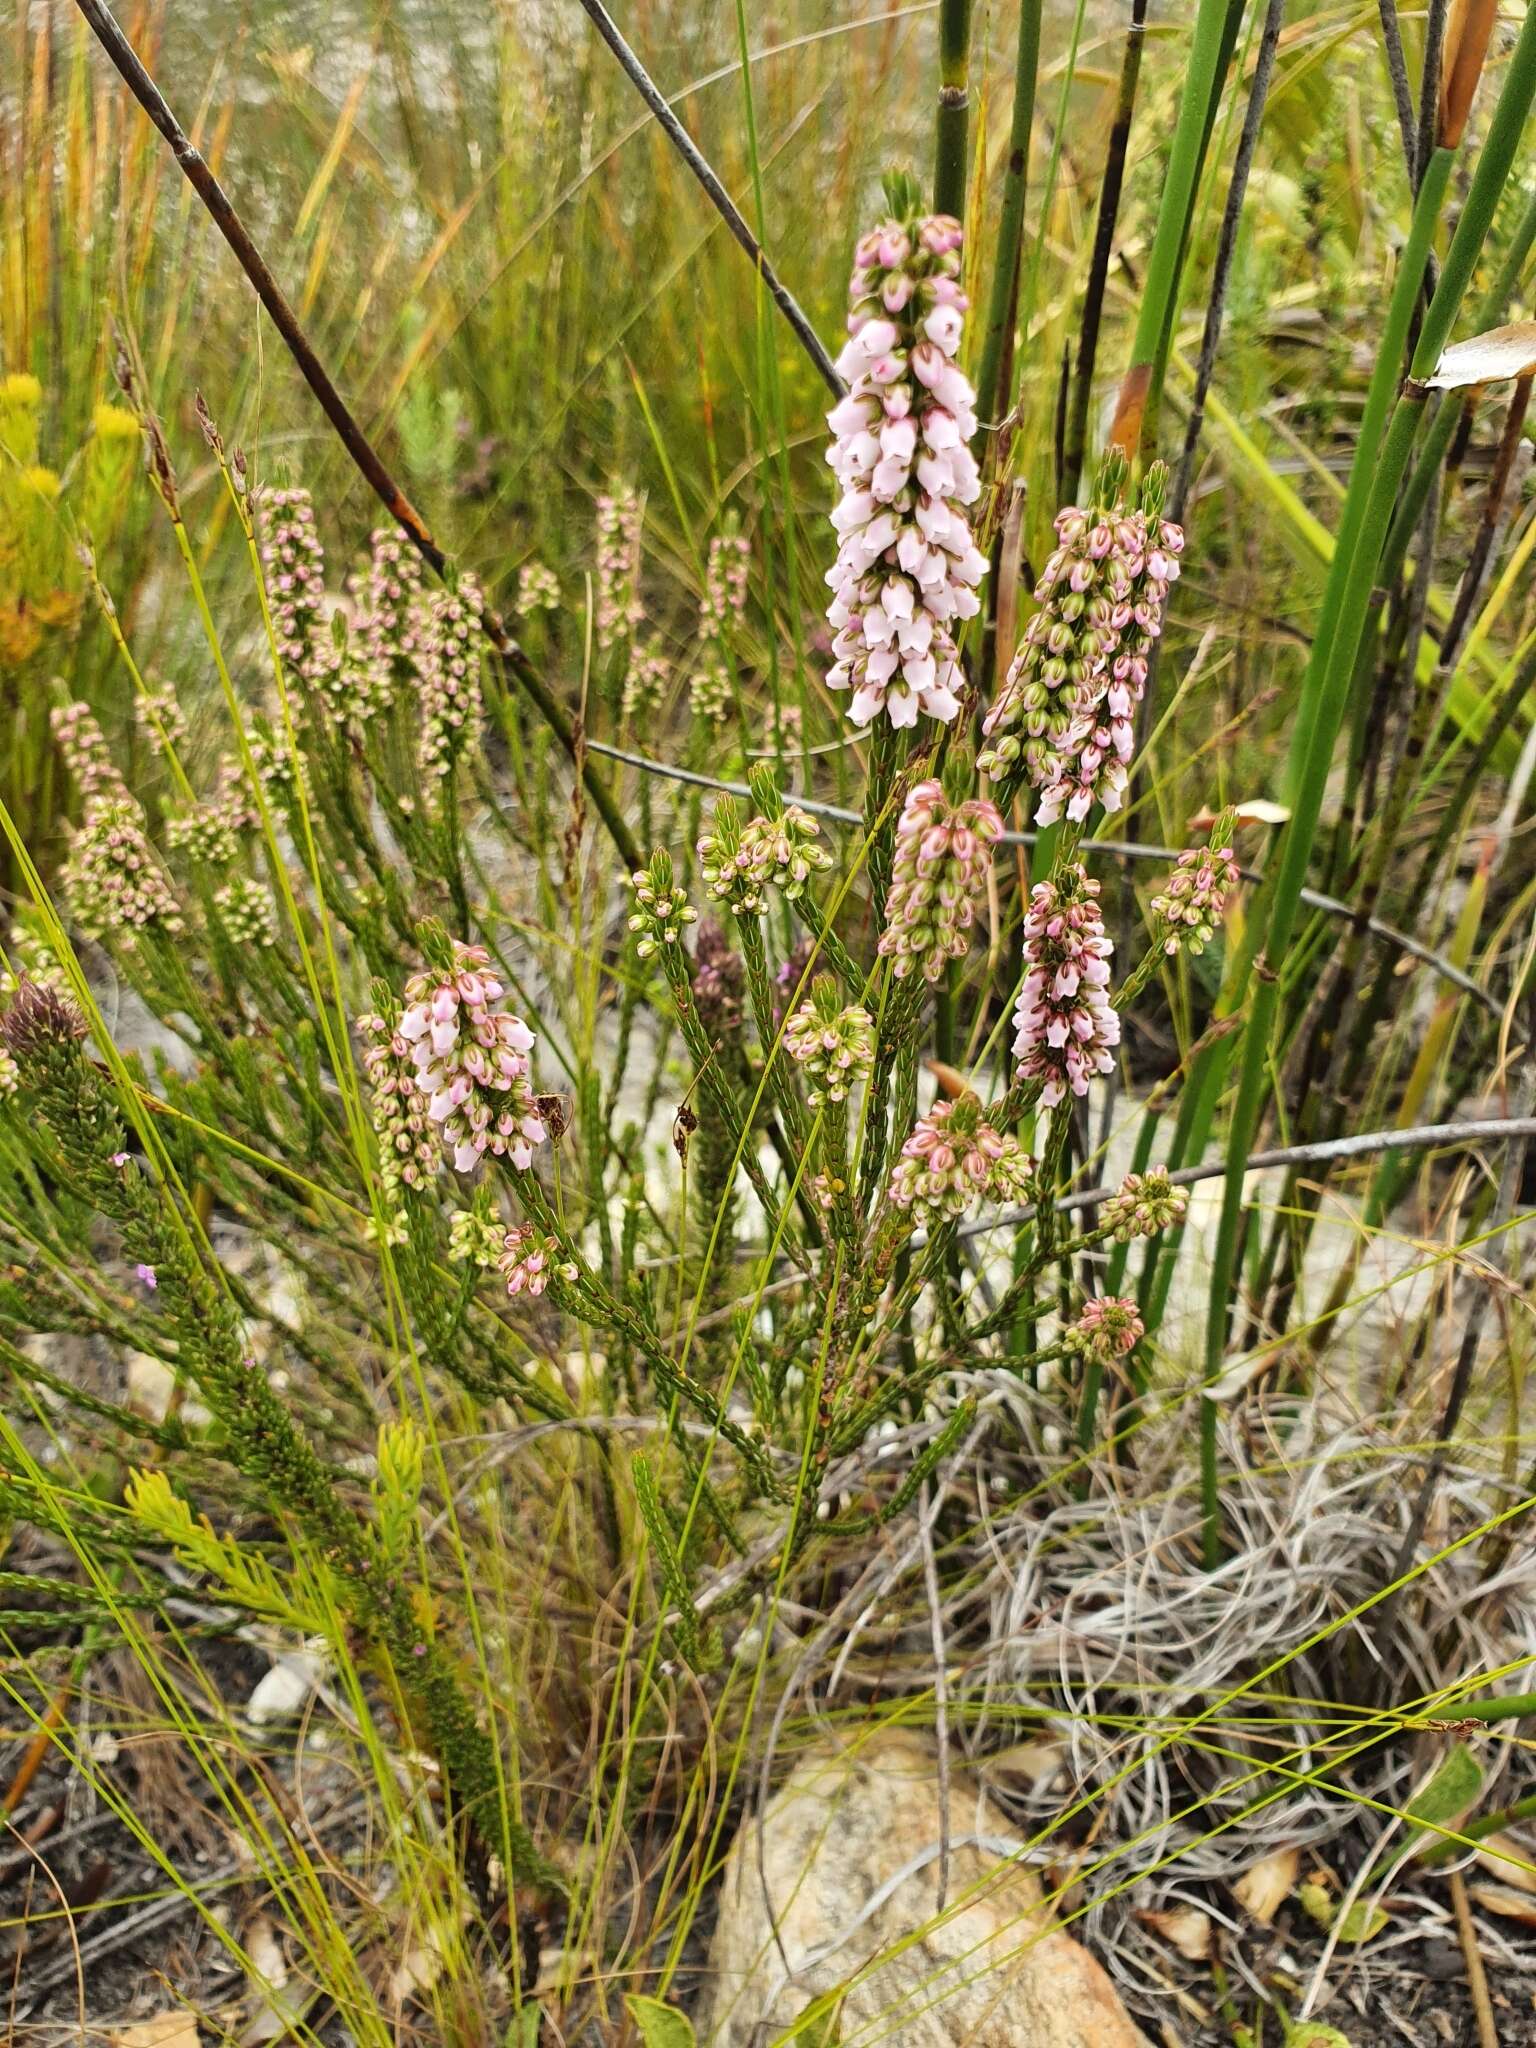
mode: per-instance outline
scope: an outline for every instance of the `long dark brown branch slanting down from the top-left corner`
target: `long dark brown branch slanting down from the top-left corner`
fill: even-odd
[[[381,504],[387,508],[389,516],[399,524],[399,530],[406,535],[406,539],[412,543],[418,555],[438,575],[446,578],[451,573],[449,557],[432,537],[432,530],[428,528],[422,514],[395,483],[379,451],[373,446],[362,426],[354,418],[352,410],[348,408],[346,399],[332,383],[326,365],[311,348],[309,338],[299,326],[299,317],[289,305],[283,287],[268,270],[262,252],[256,248],[250,233],[246,231],[246,223],[236,213],[229,195],[213,176],[199,150],[193,147],[190,139],[186,137],[186,131],[166,104],[160,86],[156,86],[154,78],[150,78],[143,63],[139,61],[137,51],[133,49],[133,45],[113,18],[111,8],[106,8],[102,0],[76,0],[76,4],[80,12],[86,16],[86,23],[90,25],[90,31],[96,37],[96,41],[113,59],[113,66],[121,74],[133,98],[139,102],[150,121],[168,141],[170,152],[180,164],[182,172],[186,174],[188,184],[207,207],[223,240],[233,250],[236,262],[246,272],[256,297],[270,313],[272,326],[283,336],[293,360],[299,365],[303,381],[319,399],[319,410],[336,428],[342,446],[352,457],[358,471],[373,485]],[[614,803],[612,791],[604,782],[602,774],[586,758],[586,750],[582,748],[582,735],[575,727],[575,721],[567,715],[555,692],[528,662],[526,653],[518,647],[506,623],[496,610],[492,610],[492,606],[481,604],[479,623],[485,631],[485,639],[489,641],[492,651],[496,653],[496,659],[506,680],[514,688],[522,690],[522,694],[532,702],[539,717],[565,748],[565,754],[569,756],[573,768],[580,772],[582,782],[586,784],[586,793],[592,799],[598,815],[602,817],[602,823],[608,827],[608,836],[618,848],[625,866],[639,868],[643,864],[641,850],[635,844],[635,838],[629,825],[625,823],[618,805]]]

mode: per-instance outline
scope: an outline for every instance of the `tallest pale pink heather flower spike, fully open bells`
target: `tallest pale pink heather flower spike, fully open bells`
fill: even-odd
[[[827,414],[842,498],[827,571],[834,668],[848,717],[948,723],[965,678],[954,621],[979,610],[987,561],[961,510],[981,494],[975,391],[956,365],[967,297],[961,223],[932,215],[864,236],[848,287],[848,395]]]

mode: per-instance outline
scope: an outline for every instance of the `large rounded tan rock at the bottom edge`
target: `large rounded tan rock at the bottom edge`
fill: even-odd
[[[846,1987],[831,2040],[1147,2048],[1100,1964],[1040,1907],[1034,1872],[1008,1862],[1018,1833],[963,1769],[948,1806],[938,1915],[930,1745],[897,1731],[803,1757],[764,1815],[762,1866],[756,1821],[727,1855],[700,2042],[768,2048]]]

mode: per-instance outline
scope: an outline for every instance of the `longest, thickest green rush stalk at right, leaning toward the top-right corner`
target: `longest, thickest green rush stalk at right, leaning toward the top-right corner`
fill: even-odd
[[[1448,70],[1454,68],[1454,59],[1456,53],[1448,53]],[[1475,78],[1466,86],[1466,102],[1470,100],[1473,86]],[[1362,416],[1360,442],[1339,520],[1339,539],[1292,723],[1290,772],[1286,778],[1292,815],[1280,838],[1274,883],[1266,883],[1253,903],[1243,954],[1231,983],[1233,991],[1241,997],[1251,979],[1251,1008],[1247,1024],[1241,1030],[1243,1067],[1227,1139],[1227,1184],[1210,1270],[1204,1348],[1206,1382],[1219,1376],[1223,1362],[1227,1305],[1237,1268],[1237,1239],[1243,1212],[1243,1163],[1253,1145],[1264,1108],[1270,1034],[1280,995],[1278,965],[1284,965],[1286,946],[1296,922],[1300,889],[1307,879],[1327,772],[1333,760],[1333,743],[1348,711],[1356,651],[1376,586],[1376,565],[1386,545],[1397,492],[1423,416],[1427,397],[1423,379],[1434,373],[1466,295],[1473,266],[1493,221],[1499,195],[1509,178],[1516,152],[1520,150],[1532,98],[1536,98],[1536,10],[1526,16],[1520,31],[1520,41],[1509,59],[1503,92],[1489,123],[1487,141],[1473,172],[1470,190],[1456,223],[1440,283],[1423,315],[1409,367],[1409,381],[1397,397],[1391,424],[1380,442],[1380,455],[1376,455],[1376,420],[1384,414],[1389,395],[1397,385],[1409,322],[1430,258],[1434,225],[1440,217],[1466,115],[1464,102],[1454,104],[1450,111],[1442,102],[1438,145],[1419,184],[1413,227],[1403,250],[1376,371]],[[1237,1036],[1229,1036],[1217,1047],[1210,1061],[1217,1075],[1214,1085],[1219,1085],[1221,1071],[1235,1047]],[[1210,1081],[1208,1077],[1202,1079],[1206,1081],[1202,1094],[1208,1098]],[[1204,1554],[1206,1563],[1214,1565],[1221,1556],[1221,1485],[1217,1475],[1217,1411],[1208,1399],[1200,1409],[1200,1466]]]

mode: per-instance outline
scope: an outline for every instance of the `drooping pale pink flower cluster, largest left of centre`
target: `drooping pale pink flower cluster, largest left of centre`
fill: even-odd
[[[489,952],[455,940],[449,975],[406,983],[406,1014],[391,1034],[391,1051],[395,1036],[406,1042],[414,1087],[461,1174],[485,1153],[526,1174],[532,1147],[549,1137],[528,1081],[535,1036],[502,1008],[504,995]]]

